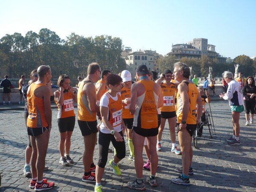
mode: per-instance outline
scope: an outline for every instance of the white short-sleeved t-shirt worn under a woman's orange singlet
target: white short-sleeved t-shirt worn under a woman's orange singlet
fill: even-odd
[[[121,93],[117,93],[119,94],[119,96],[121,96]],[[118,96],[115,97],[112,97],[110,94],[109,96],[111,96],[111,98],[114,100],[114,101],[117,101],[118,99]],[[102,98],[100,99],[100,102],[99,102],[99,106],[102,106],[102,107],[106,107],[108,108],[108,111],[109,111],[109,107],[108,107],[108,104],[109,104],[109,98],[108,96],[106,96],[106,93],[102,96]],[[108,113],[109,115],[109,113]],[[108,115],[107,115],[107,118],[108,118]],[[117,125],[116,127],[113,127],[114,130],[116,130],[117,132],[120,132],[122,131],[122,124],[120,125]],[[111,134],[111,131],[104,125],[104,122],[102,122],[102,124],[99,126],[99,130],[102,132],[102,133],[105,133],[105,134]]]

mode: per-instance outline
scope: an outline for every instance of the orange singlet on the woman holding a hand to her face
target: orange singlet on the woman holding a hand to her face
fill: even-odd
[[[66,118],[70,116],[76,116],[74,112],[74,100],[73,100],[73,93],[68,91],[67,94],[63,93],[64,103],[60,105],[56,100],[56,104],[58,106],[58,115],[57,119]]]

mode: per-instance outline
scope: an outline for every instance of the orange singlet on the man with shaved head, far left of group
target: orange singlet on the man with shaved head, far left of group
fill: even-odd
[[[42,128],[48,126],[45,117],[44,99],[39,98],[34,94],[35,90],[41,86],[47,85],[32,83],[30,85],[30,90],[27,93],[27,106],[29,111],[27,126],[30,128]]]

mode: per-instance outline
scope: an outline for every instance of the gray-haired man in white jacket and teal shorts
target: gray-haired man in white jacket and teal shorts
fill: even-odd
[[[227,93],[221,93],[220,98],[228,100],[232,111],[233,136],[227,139],[229,145],[240,145],[239,134],[240,113],[244,111],[244,101],[241,84],[233,79],[233,73],[224,71],[224,80],[228,83]]]

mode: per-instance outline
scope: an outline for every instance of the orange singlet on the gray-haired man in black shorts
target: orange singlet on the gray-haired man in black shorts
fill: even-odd
[[[189,114],[188,118],[186,119],[187,124],[195,125],[196,124],[196,101],[198,98],[198,88],[195,84],[189,83],[188,81],[182,81],[182,83],[186,83],[189,87],[188,95],[189,95]],[[182,119],[182,105],[183,101],[180,97],[179,92],[177,93],[177,119],[178,123],[181,123]]]

